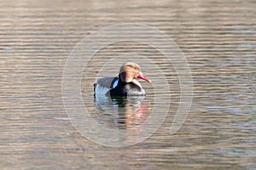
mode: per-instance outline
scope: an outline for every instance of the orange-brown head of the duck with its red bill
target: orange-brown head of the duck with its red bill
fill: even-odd
[[[135,78],[151,82],[148,77],[143,76],[140,65],[133,62],[125,63],[120,67],[119,78],[121,79],[121,82],[133,82]]]

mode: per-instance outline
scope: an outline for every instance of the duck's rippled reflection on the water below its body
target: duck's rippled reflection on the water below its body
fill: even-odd
[[[133,128],[142,124],[150,116],[150,102],[145,96],[95,98],[96,110],[103,111],[113,118],[113,123],[119,128]],[[101,117],[101,116],[99,116]],[[103,122],[101,118],[98,122]]]

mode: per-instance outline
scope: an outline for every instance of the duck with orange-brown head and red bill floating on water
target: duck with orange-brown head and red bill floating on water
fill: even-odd
[[[145,90],[137,78],[151,82],[143,75],[140,65],[127,62],[120,66],[118,77],[102,77],[94,83],[94,96],[145,96]]]

